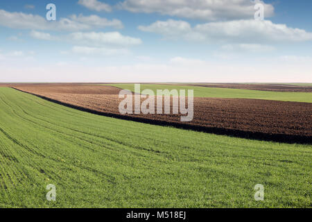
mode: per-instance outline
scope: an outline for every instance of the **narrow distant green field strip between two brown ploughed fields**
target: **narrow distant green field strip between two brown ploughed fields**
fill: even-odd
[[[134,84],[110,84],[121,89],[135,90]],[[189,85],[152,85],[141,84],[141,91],[144,89],[193,89],[194,96],[197,97],[216,97],[216,98],[243,98],[243,99],[267,99],[276,101],[294,101],[312,103],[312,92],[270,92],[250,89],[226,89],[212,88]]]

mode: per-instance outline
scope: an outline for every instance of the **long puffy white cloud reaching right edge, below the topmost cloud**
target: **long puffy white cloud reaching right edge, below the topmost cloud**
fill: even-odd
[[[191,27],[184,21],[157,21],[150,26],[139,26],[139,30],[159,33],[164,37],[207,42],[300,42],[312,40],[312,33],[300,28],[290,28],[285,24],[271,21],[236,20],[229,22],[209,22]]]

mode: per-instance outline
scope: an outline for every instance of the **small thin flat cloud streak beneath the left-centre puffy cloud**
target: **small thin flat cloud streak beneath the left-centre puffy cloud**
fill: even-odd
[[[110,49],[110,48],[98,48],[88,46],[73,46],[71,52],[83,54],[85,56],[116,56],[116,55],[128,55],[130,51],[128,49]]]

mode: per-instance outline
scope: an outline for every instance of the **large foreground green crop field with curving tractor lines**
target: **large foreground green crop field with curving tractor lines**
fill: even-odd
[[[311,207],[311,158],[309,145],[101,117],[0,87],[0,207]]]

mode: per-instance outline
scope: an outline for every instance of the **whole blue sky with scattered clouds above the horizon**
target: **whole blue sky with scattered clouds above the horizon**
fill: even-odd
[[[0,1],[0,82],[312,83],[311,10],[308,0]]]

